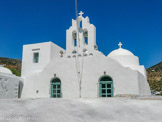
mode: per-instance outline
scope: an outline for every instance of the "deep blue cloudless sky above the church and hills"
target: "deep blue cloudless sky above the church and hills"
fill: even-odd
[[[162,61],[162,0],[78,0],[96,26],[105,55],[119,41],[146,67]],[[0,57],[22,58],[24,44],[53,41],[65,48],[75,0],[0,0]]]

